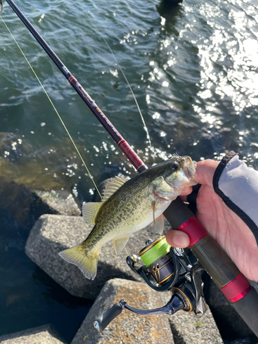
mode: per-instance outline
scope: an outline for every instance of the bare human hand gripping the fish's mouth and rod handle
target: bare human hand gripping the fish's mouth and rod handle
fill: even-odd
[[[240,272],[258,282],[258,247],[255,236],[213,189],[213,175],[218,164],[213,160],[197,162],[196,171],[202,186],[196,199],[196,217]],[[180,195],[182,200],[186,201],[189,193],[191,188],[184,189]],[[189,236],[180,230],[168,230],[166,241],[175,247],[187,247],[190,242]]]

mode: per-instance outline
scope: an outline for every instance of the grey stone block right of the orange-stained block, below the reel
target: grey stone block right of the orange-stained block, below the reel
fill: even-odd
[[[222,344],[222,337],[213,319],[211,310],[197,318],[180,310],[169,317],[175,344]]]

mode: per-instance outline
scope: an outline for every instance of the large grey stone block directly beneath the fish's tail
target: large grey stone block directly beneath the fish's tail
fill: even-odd
[[[94,281],[89,281],[80,270],[64,261],[58,252],[83,241],[92,226],[83,222],[83,217],[65,215],[42,215],[30,231],[25,252],[52,279],[76,297],[96,299],[105,281],[120,277],[140,281],[126,264],[125,250],[115,254],[113,242],[100,250],[98,273]],[[144,229],[131,235],[126,246],[129,255],[138,253],[145,246],[148,237],[157,237],[151,230]]]

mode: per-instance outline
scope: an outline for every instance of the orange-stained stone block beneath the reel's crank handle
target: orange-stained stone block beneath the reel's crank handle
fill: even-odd
[[[124,279],[108,281],[71,344],[173,344],[173,335],[166,314],[143,316],[123,310],[102,333],[95,330],[92,325],[96,316],[106,312],[121,299],[125,299],[134,308],[162,307],[164,303],[160,294],[151,290],[144,283]]]

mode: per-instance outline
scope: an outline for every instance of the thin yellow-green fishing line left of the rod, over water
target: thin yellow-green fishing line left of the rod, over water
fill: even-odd
[[[47,99],[50,101],[50,104],[51,104],[52,107],[54,108],[54,111],[56,111],[56,114],[57,114],[59,120],[61,120],[61,123],[62,123],[63,127],[65,128],[65,131],[67,132],[67,135],[69,136],[69,139],[72,141],[72,144],[74,144],[74,148],[76,149],[76,152],[78,153],[78,155],[79,155],[79,157],[80,157],[80,160],[83,162],[83,165],[85,166],[85,169],[86,169],[86,171],[87,171],[87,173],[88,173],[88,175],[89,175],[89,178],[92,180],[92,182],[93,182],[93,184],[94,184],[94,186],[95,186],[95,188],[96,188],[96,191],[98,191],[98,188],[97,188],[97,186],[96,186],[96,184],[95,184],[95,182],[94,182],[94,179],[93,179],[91,173],[89,172],[89,169],[87,168],[87,165],[85,164],[85,161],[83,160],[83,157],[80,155],[80,152],[78,151],[78,148],[77,148],[76,144],[74,143],[74,140],[72,139],[72,136],[70,135],[70,133],[69,133],[67,127],[65,126],[65,123],[63,122],[61,116],[58,114],[58,111],[57,111],[56,107],[54,106],[52,100],[50,99],[50,96],[47,94],[47,91],[45,90],[44,86],[42,85],[41,80],[39,80],[39,77],[36,75],[36,72],[34,71],[32,65],[31,65],[30,62],[28,61],[28,58],[25,56],[25,54],[23,53],[23,50],[22,50],[21,47],[19,46],[19,43],[18,43],[17,40],[14,38],[14,35],[12,34],[12,32],[9,30],[8,25],[6,24],[6,22],[3,20],[3,18],[2,18],[1,16],[0,16],[0,18],[1,18],[1,20],[3,21],[3,24],[6,26],[8,32],[9,32],[10,35],[12,36],[12,39],[14,39],[14,42],[17,44],[17,47],[19,47],[19,50],[21,51],[21,54],[23,54],[23,57],[24,57],[25,60],[27,61],[28,65],[30,66],[30,69],[32,69],[32,72],[33,72],[34,76],[36,77],[36,80],[39,81],[39,85],[41,85],[43,91],[45,92],[45,95],[47,96]],[[101,200],[102,200],[103,197],[101,196],[101,194],[100,194],[99,191],[98,191],[98,195],[100,195],[100,198],[101,198]]]

